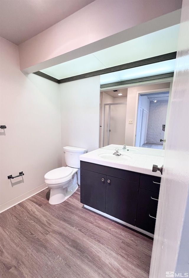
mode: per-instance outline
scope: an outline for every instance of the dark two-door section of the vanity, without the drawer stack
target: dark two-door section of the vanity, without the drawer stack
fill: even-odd
[[[139,173],[81,161],[81,203],[135,226],[139,177]]]

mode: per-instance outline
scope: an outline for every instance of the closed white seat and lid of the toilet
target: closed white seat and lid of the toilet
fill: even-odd
[[[78,170],[69,166],[53,169],[45,174],[45,183],[50,185],[67,182]]]

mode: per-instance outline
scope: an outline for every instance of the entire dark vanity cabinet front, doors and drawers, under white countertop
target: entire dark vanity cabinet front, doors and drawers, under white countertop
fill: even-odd
[[[81,161],[81,203],[154,233],[160,177]]]

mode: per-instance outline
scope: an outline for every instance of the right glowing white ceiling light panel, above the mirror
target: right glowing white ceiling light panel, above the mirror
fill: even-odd
[[[179,24],[93,53],[107,68],[177,51]]]

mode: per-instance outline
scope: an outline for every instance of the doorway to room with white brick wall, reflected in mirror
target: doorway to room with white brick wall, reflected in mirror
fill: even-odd
[[[169,91],[139,94],[136,147],[163,149]]]

